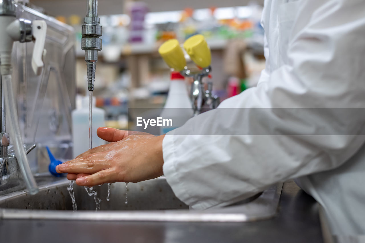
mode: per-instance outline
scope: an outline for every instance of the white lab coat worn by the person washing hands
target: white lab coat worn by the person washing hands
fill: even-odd
[[[299,178],[333,234],[365,234],[365,112],[299,119],[271,109],[365,108],[364,0],[265,0],[262,23],[266,69],[258,86],[219,106],[246,108],[245,119],[222,122],[217,109],[169,132],[167,181],[193,209],[207,209]],[[266,119],[255,120],[252,108],[266,108]],[[261,135],[214,135],[258,123]],[[326,132],[318,135],[318,128]]]

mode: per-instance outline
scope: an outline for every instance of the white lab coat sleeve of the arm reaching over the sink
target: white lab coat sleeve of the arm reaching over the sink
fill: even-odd
[[[268,82],[166,134],[164,174],[193,209],[229,205],[277,182],[331,170],[364,143],[365,112],[349,117],[335,108],[346,113],[365,107],[365,4],[302,3],[288,62],[272,71]],[[244,108],[244,116],[219,119],[224,108]],[[254,115],[256,108],[263,108],[264,119]],[[296,108],[326,109],[307,109],[301,116]],[[232,129],[243,132],[221,134]]]

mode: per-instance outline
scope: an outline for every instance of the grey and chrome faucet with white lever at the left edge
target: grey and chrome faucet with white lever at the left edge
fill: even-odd
[[[0,1],[1,76],[8,76],[12,74],[11,54],[14,42],[19,41],[23,43],[23,42],[31,42],[32,40],[35,40],[33,55],[32,55],[32,69],[35,74],[37,75],[41,74],[43,68],[42,58],[46,53],[44,50],[46,30],[47,30],[47,25],[46,22],[43,20],[30,21],[26,19],[16,19],[16,5],[14,3],[14,0]],[[24,185],[22,184],[22,180],[20,180],[21,179],[20,175],[23,174],[23,177],[28,179],[27,181],[31,181],[32,185],[35,185],[30,189],[30,193],[36,193],[38,189],[36,187],[37,185],[35,184],[34,178],[30,173],[28,161],[18,161],[15,155],[8,152],[10,139],[9,139],[9,133],[7,132],[6,129],[6,111],[4,104],[5,102],[11,102],[11,101],[9,101],[9,99],[7,100],[4,99],[3,81],[4,80],[2,80],[1,78],[0,192],[6,193],[8,191],[21,189],[22,187],[24,187]],[[12,95],[13,94],[11,95],[9,94],[9,97],[12,97]],[[15,126],[14,124],[11,125]],[[31,147],[32,147],[31,149],[33,149],[35,145],[32,145]],[[28,149],[26,153],[29,153],[31,149]]]

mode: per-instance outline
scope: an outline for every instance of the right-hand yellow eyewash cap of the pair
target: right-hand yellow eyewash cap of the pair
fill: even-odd
[[[203,35],[194,35],[184,43],[184,49],[196,65],[205,68],[210,66],[212,55]]]

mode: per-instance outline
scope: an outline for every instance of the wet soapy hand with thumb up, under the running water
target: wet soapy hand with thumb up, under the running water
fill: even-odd
[[[162,140],[145,132],[128,132],[99,127],[97,135],[110,144],[80,154],[72,161],[56,167],[58,173],[68,173],[69,180],[80,186],[108,182],[139,182],[163,174]]]

